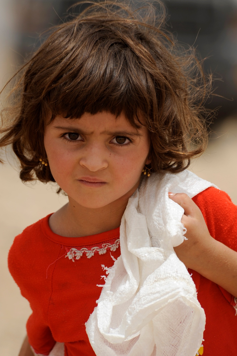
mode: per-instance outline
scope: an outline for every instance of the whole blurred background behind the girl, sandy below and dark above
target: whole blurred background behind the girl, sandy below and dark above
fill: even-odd
[[[135,1],[135,0],[133,0]],[[40,45],[39,35],[64,21],[71,0],[0,0],[0,86]],[[192,163],[192,171],[225,190],[237,204],[237,0],[164,0],[168,29],[182,43],[194,45],[205,72],[214,73],[219,107],[207,151]],[[18,354],[30,315],[28,302],[7,270],[7,252],[24,227],[67,202],[50,184],[21,183],[17,162],[8,151],[0,166],[0,355]]]

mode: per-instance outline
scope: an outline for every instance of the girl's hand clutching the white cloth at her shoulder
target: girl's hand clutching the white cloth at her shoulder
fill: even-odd
[[[203,256],[208,255],[213,238],[209,234],[201,210],[187,194],[169,193],[169,198],[184,209],[181,223],[187,229],[187,240],[174,247],[175,253],[187,268],[197,271]]]

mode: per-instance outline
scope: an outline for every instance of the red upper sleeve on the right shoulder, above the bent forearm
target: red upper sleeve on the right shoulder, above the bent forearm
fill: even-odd
[[[192,200],[199,206],[210,235],[237,251],[237,206],[222,190],[209,187]]]

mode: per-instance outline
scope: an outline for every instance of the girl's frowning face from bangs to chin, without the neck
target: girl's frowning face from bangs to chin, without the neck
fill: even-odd
[[[136,129],[108,112],[75,120],[58,115],[46,125],[44,143],[54,179],[69,202],[86,208],[128,199],[150,163],[146,127]]]

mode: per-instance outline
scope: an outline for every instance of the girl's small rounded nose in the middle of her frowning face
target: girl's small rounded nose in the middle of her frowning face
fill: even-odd
[[[98,144],[87,145],[84,148],[80,165],[91,172],[100,171],[108,167],[105,151]]]

